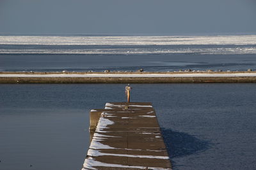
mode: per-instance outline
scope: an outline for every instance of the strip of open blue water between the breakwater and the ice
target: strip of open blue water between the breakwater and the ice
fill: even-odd
[[[256,54],[0,55],[0,71],[256,70]]]

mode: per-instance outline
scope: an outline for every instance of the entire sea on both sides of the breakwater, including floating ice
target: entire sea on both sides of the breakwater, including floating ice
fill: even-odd
[[[0,71],[256,70],[256,35],[0,34]],[[81,169],[89,112],[126,84],[0,84],[0,169]],[[256,169],[255,83],[131,84],[154,106],[173,170]]]

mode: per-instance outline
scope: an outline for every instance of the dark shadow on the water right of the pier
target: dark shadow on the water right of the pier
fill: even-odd
[[[184,132],[161,129],[170,159],[204,152],[211,148],[209,141],[203,141]]]

